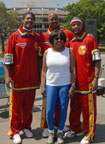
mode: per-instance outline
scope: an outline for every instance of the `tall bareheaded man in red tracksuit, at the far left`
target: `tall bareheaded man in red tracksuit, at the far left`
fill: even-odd
[[[23,25],[13,32],[4,55],[5,82],[12,87],[10,96],[10,131],[15,144],[21,143],[19,132],[32,137],[32,107],[35,89],[39,87],[38,41],[39,34],[32,31],[35,16],[27,12],[23,16]]]

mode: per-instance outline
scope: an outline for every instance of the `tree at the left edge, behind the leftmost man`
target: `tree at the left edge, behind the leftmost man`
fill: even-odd
[[[2,52],[4,52],[4,43],[8,36],[14,29],[17,28],[18,21],[16,19],[17,13],[7,12],[7,9],[3,2],[0,2],[0,42],[2,46]]]

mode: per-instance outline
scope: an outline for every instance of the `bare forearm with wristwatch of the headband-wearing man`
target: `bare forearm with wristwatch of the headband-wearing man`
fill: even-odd
[[[92,91],[96,90],[98,87],[98,77],[99,77],[100,67],[101,67],[101,61],[100,60],[95,61],[95,67],[94,67],[95,74],[90,87]]]

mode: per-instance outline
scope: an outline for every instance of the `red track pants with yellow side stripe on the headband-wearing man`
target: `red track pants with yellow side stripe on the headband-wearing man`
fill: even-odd
[[[95,137],[96,129],[96,93],[75,94],[70,104],[70,128],[79,133],[82,131],[80,115],[83,116],[83,128],[86,137]]]

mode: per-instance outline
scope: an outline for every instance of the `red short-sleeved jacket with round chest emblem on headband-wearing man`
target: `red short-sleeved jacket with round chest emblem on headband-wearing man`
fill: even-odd
[[[101,60],[99,48],[94,37],[83,32],[70,41],[77,64],[76,92],[89,93],[89,85],[94,77],[94,62]]]

